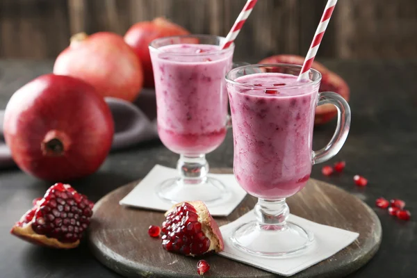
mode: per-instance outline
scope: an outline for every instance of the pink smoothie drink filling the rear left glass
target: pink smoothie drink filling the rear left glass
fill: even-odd
[[[227,90],[233,50],[210,44],[172,44],[151,51],[158,134],[172,152],[194,156],[226,136]]]

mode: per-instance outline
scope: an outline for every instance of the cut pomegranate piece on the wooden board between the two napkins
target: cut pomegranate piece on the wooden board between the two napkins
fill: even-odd
[[[165,216],[162,223],[162,246],[165,250],[186,256],[223,250],[222,234],[204,202],[179,203]]]

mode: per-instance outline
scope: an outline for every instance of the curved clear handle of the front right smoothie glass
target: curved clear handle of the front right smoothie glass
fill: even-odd
[[[342,148],[350,128],[350,107],[341,95],[335,92],[321,92],[318,99],[318,106],[333,104],[337,108],[336,131],[326,147],[313,152],[313,165],[328,161],[335,156]]]

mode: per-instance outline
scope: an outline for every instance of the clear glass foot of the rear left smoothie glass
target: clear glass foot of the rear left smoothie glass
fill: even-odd
[[[207,178],[201,183],[184,184],[181,179],[167,179],[156,187],[156,194],[174,204],[186,201],[203,201],[221,204],[231,197],[231,191],[218,179]]]

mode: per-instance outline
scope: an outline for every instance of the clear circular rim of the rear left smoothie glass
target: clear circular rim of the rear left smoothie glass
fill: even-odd
[[[232,44],[230,44],[230,47],[227,47],[227,49],[219,49],[218,51],[213,51],[210,53],[193,53],[193,54],[187,54],[187,53],[178,53],[178,52],[174,52],[174,51],[161,51],[161,47],[156,47],[154,46],[154,44],[156,42],[162,41],[162,40],[172,40],[174,38],[217,38],[220,40],[225,40],[226,38],[220,36],[220,35],[204,35],[204,34],[190,34],[190,35],[172,35],[169,37],[163,37],[163,38],[156,38],[155,40],[152,40],[152,42],[149,42],[148,47],[149,49],[152,49],[154,51],[159,51],[162,53],[166,53],[166,54],[170,54],[173,56],[211,56],[213,54],[226,54],[229,51],[233,51],[235,44],[234,42]],[[174,45],[174,44],[167,44],[167,45]],[[217,45],[217,44],[211,44],[211,45]],[[164,45],[165,47],[166,45]]]

